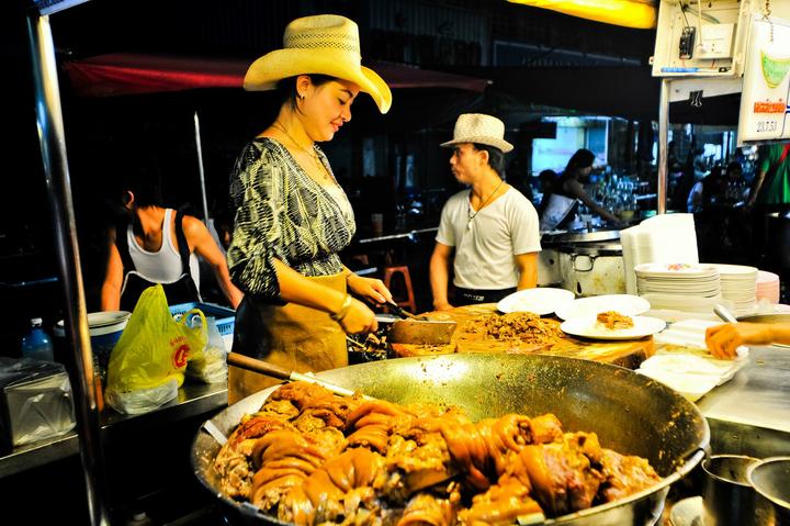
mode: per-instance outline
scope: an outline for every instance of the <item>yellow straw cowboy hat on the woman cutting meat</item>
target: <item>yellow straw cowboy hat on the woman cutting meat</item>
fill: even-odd
[[[267,91],[279,80],[297,75],[321,74],[348,80],[370,94],[386,113],[392,93],[384,80],[361,65],[359,27],[337,14],[296,19],[285,27],[283,49],[268,53],[252,63],[245,76],[248,91]]]

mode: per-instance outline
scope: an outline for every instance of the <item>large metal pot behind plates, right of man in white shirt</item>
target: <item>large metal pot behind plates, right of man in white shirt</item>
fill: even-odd
[[[578,296],[625,293],[622,245],[585,243],[558,248],[561,287]]]

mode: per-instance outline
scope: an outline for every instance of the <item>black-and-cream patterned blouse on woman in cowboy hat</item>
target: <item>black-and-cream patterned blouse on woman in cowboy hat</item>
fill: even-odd
[[[326,155],[315,149],[331,174]],[[348,198],[342,191],[332,197],[279,142],[258,137],[245,147],[229,193],[235,221],[228,269],[245,293],[282,301],[274,258],[308,277],[342,270],[338,253],[357,231]]]

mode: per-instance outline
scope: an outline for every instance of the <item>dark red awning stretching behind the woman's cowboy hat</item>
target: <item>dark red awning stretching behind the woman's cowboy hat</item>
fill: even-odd
[[[241,88],[249,60],[113,53],[68,60],[64,68],[79,97],[112,97],[200,88]],[[454,88],[482,92],[489,80],[416,66],[368,64],[391,88]]]

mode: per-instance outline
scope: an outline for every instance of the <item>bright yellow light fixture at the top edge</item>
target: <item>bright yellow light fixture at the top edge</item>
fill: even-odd
[[[533,8],[637,30],[655,27],[657,9],[652,0],[507,0]]]

